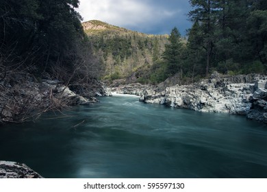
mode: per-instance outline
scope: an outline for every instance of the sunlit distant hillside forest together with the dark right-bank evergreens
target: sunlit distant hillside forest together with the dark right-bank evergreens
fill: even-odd
[[[186,37],[177,27],[168,36],[140,34],[115,26],[87,30],[104,71],[103,79],[128,78],[157,84],[175,76],[177,83],[185,84],[213,71],[228,75],[266,72],[266,1],[190,3],[188,19],[192,28]]]

